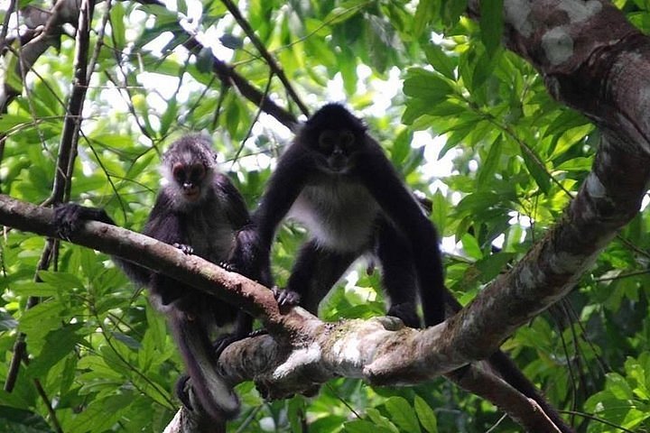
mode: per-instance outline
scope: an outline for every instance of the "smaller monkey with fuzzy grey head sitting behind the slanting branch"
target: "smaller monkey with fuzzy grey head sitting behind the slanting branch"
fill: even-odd
[[[235,248],[237,230],[250,223],[241,194],[223,173],[218,172],[217,154],[209,138],[186,135],[172,143],[163,154],[162,172],[167,184],[156,198],[143,234],[194,253],[212,263],[227,263]],[[115,225],[103,209],[68,204],[55,210],[60,235],[67,238],[83,220],[93,219]],[[232,419],[239,410],[237,395],[216,368],[218,354],[212,332],[235,324],[232,335],[223,337],[218,348],[248,336],[253,318],[237,307],[195,290],[181,281],[126,262],[114,261],[126,275],[147,286],[152,303],[163,311],[172,327],[192,387],[200,406],[210,418]],[[270,277],[251,273],[249,278],[270,284]],[[179,396],[190,406],[186,395]]]

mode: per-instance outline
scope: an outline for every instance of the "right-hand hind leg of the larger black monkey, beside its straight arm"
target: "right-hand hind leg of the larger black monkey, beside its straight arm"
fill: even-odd
[[[388,295],[388,316],[402,319],[407,327],[421,327],[416,312],[417,279],[413,252],[408,240],[381,219],[377,229],[376,254],[382,267],[382,283]]]

